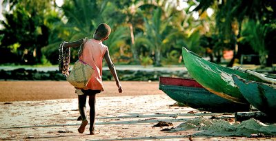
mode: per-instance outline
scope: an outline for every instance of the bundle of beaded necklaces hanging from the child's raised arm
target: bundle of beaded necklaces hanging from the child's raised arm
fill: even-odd
[[[63,76],[68,76],[70,68],[70,47],[63,47],[63,43],[59,45],[59,72]]]

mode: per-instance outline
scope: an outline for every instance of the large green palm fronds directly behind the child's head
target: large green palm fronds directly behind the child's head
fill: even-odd
[[[53,38],[50,38],[50,44],[45,47],[43,51],[48,53],[57,52],[57,46],[62,41],[77,41],[84,37],[92,38],[92,34],[95,32],[95,28],[97,28],[99,23],[108,23],[112,30],[114,30],[116,28],[116,18],[110,18],[117,16],[114,9],[114,5],[107,0],[64,1],[63,6],[61,6],[64,17],[61,19],[61,22],[52,25],[52,33],[55,34],[51,36]],[[121,32],[121,30],[114,31]],[[114,34],[116,33],[110,35],[111,39]],[[108,46],[111,45],[112,48],[114,48],[113,46],[115,45],[112,45],[111,43],[116,44],[116,39],[120,40],[121,37],[112,39],[114,42],[108,41]],[[77,52],[78,49],[72,49],[72,59],[77,58]]]

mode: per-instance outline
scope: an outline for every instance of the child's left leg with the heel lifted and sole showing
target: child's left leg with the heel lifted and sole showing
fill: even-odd
[[[86,125],[88,124],[87,115],[86,115],[86,95],[79,95],[79,113],[81,114],[82,122],[79,127],[79,133],[83,133],[86,129]]]

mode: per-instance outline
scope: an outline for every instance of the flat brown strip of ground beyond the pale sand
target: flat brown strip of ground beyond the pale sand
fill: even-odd
[[[124,92],[121,94],[115,81],[104,81],[103,85],[105,91],[97,97],[163,94],[158,82],[122,81]],[[65,98],[77,98],[74,87],[67,81],[0,81],[0,102]]]

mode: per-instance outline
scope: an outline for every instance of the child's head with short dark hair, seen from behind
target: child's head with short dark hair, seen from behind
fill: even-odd
[[[94,38],[97,40],[104,41],[108,39],[110,32],[111,32],[110,26],[106,23],[101,23],[99,24],[98,28],[94,33]]]

